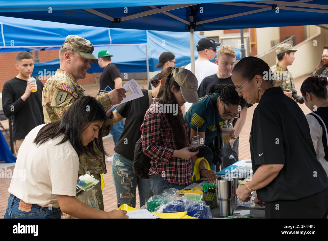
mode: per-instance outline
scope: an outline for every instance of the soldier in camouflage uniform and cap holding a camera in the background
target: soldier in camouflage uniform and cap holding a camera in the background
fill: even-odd
[[[288,90],[295,89],[295,85],[293,84],[292,73],[288,71],[287,66],[292,65],[295,59],[294,52],[296,51],[291,44],[278,45],[276,48],[278,63],[271,67],[271,71],[275,76],[273,86],[280,86],[289,97],[292,97],[292,92]]]

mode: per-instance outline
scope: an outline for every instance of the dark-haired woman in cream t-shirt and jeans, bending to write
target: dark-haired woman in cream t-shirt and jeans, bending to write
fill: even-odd
[[[5,218],[128,218],[123,210],[102,211],[76,199],[79,156],[106,153],[101,104],[91,96],[76,100],[56,122],[35,127],[25,137],[12,175]]]

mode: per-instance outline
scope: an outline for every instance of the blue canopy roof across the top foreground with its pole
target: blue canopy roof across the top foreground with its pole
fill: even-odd
[[[96,27],[189,31],[326,24],[326,0],[16,0],[0,3],[0,15]],[[311,2],[311,3],[308,3]],[[86,19],[86,21],[81,21]],[[195,66],[192,61],[192,71]]]

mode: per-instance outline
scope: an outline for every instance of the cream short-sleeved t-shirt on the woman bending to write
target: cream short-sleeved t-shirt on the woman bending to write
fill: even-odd
[[[31,130],[20,146],[8,191],[25,203],[58,208],[57,195],[76,196],[79,157],[69,140],[56,145],[64,135],[37,147],[33,141],[44,126]]]

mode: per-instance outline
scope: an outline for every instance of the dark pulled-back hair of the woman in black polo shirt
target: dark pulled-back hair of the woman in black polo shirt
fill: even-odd
[[[234,69],[232,70],[232,74],[239,73],[245,80],[250,80],[255,77],[255,75],[260,75],[264,80],[267,80],[266,77],[268,76],[269,79],[267,80],[271,85],[273,85],[274,80],[271,79],[271,69],[269,65],[262,59],[249,56],[242,58],[238,61]]]

